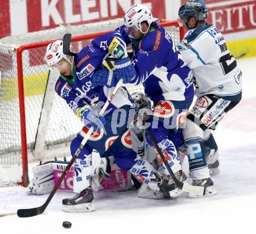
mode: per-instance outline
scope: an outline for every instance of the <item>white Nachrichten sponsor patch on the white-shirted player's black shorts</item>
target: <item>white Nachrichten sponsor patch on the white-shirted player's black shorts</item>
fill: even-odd
[[[201,118],[201,122],[205,124],[205,126],[209,126],[216,118],[223,114],[224,109],[229,105],[229,100],[224,100],[220,98],[214,106],[209,109],[207,114]]]

